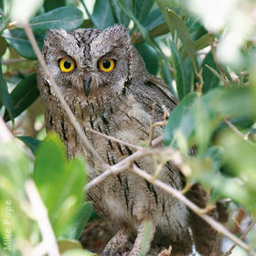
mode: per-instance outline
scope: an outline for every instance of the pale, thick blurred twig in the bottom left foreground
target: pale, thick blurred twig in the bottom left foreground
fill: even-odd
[[[48,219],[48,210],[39,196],[34,181],[27,180],[25,189],[32,206],[34,219],[37,220],[37,225],[41,231],[45,248],[42,255],[48,253],[49,256],[59,256],[59,247]],[[42,249],[42,245],[40,245],[40,248]],[[37,256],[40,255],[37,254]]]

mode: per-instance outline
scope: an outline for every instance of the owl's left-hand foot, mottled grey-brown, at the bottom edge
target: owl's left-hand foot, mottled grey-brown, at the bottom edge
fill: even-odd
[[[121,256],[127,250],[128,240],[131,230],[127,228],[120,229],[114,237],[107,243],[101,256]]]

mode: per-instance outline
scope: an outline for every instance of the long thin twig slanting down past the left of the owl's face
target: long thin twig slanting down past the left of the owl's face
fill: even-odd
[[[27,38],[29,39],[32,48],[34,49],[36,55],[37,55],[37,59],[41,65],[41,67],[44,69],[45,71],[45,75],[47,77],[47,79],[50,82],[50,85],[52,87],[52,89],[55,91],[63,109],[65,110],[65,112],[67,113],[70,122],[73,124],[74,128],[76,129],[77,133],[79,133],[80,138],[83,142],[83,144],[85,145],[85,147],[87,147],[90,151],[91,154],[94,155],[97,160],[101,163],[101,165],[103,166],[103,168],[107,168],[108,165],[104,163],[104,161],[102,160],[101,156],[97,153],[97,151],[94,149],[94,147],[91,145],[91,143],[89,142],[88,138],[86,137],[85,133],[82,131],[81,127],[80,127],[80,123],[77,121],[76,117],[74,116],[73,112],[71,112],[69,105],[67,104],[67,102],[65,101],[64,97],[62,96],[61,92],[59,91],[59,88],[57,86],[57,84],[55,83],[55,81],[53,80],[52,76],[50,75],[49,71],[48,71],[48,67],[46,65],[45,60],[42,57],[42,54],[40,52],[40,49],[37,46],[37,41],[36,38],[33,34],[33,31],[30,27],[30,25],[27,23],[24,25],[24,30],[27,34]]]

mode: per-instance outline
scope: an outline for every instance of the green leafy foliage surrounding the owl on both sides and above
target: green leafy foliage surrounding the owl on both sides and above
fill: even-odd
[[[46,137],[37,59],[17,22],[29,8],[40,48],[49,28],[130,28],[146,68],[162,77],[179,101],[165,126],[165,145],[184,155],[192,170],[188,182],[201,182],[212,203],[226,202],[227,228],[240,236],[256,218],[255,2],[45,0],[34,9],[31,3],[0,0],[0,112],[16,137],[0,142],[1,255],[32,255],[42,240],[29,214],[29,179],[48,208],[61,253],[92,255],[80,251],[78,241],[92,212],[91,203],[84,203],[86,164],[68,161],[57,135]],[[193,145],[197,155],[191,157],[187,152]],[[5,250],[7,231],[12,250]],[[254,227],[246,239],[254,250],[255,240]],[[223,251],[229,247],[230,241],[223,242]],[[247,253],[237,247],[232,255]]]

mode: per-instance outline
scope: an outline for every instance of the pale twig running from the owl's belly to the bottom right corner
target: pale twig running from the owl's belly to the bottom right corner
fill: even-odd
[[[226,236],[230,240],[233,240],[235,243],[240,245],[241,248],[251,253],[251,255],[256,256],[256,253],[251,250],[251,248],[244,243],[242,240],[238,239],[236,236],[234,236],[232,233],[229,232],[228,229],[223,227],[219,222],[215,219],[210,218],[206,214],[200,214],[201,208],[198,208],[196,204],[191,202],[187,197],[185,197],[180,191],[176,190],[173,187],[170,187],[169,185],[165,184],[164,182],[155,179],[153,180],[153,176],[146,173],[144,170],[138,168],[136,165],[133,165],[133,172],[137,174],[138,176],[144,177],[147,181],[151,182],[153,185],[157,187],[161,187],[163,190],[165,190],[168,194],[172,195],[173,197],[178,198],[181,202],[183,202],[188,208],[192,209],[197,215],[204,219],[208,224],[213,228],[216,229],[220,234]]]

